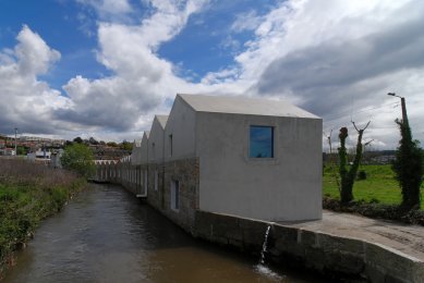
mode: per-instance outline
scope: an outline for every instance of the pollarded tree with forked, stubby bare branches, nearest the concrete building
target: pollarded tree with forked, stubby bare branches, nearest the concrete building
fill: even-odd
[[[362,159],[362,152],[363,147],[362,145],[362,136],[366,130],[366,127],[370,125],[370,122],[365,125],[364,128],[359,130],[354,122],[352,122],[354,128],[358,132],[358,142],[356,142],[356,152],[355,157],[353,159],[352,164],[350,165],[348,170],[348,152],[346,149],[346,138],[348,137],[348,128],[341,127],[339,139],[340,139],[340,147],[338,149],[339,151],[339,173],[341,179],[341,188],[340,188],[340,200],[342,204],[348,204],[353,200],[353,183],[356,177],[358,169],[361,163]],[[370,144],[371,142],[366,143],[365,145]]]

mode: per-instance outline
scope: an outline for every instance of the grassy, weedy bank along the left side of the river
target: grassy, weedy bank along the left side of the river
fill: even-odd
[[[65,205],[84,179],[26,160],[0,159],[0,279],[13,253],[32,237],[40,221]]]

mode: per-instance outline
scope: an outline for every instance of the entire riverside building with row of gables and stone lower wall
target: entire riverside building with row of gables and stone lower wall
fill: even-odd
[[[156,115],[133,149],[135,179],[126,180],[185,229],[197,210],[320,219],[322,127],[322,119],[283,101],[177,95],[169,116]]]

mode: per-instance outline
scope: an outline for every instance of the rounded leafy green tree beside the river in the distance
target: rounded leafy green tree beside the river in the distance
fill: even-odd
[[[64,169],[74,171],[82,176],[89,177],[95,173],[92,150],[84,144],[66,146],[60,161]]]

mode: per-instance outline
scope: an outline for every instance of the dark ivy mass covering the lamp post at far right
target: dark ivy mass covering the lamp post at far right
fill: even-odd
[[[420,208],[420,187],[423,182],[423,153],[419,140],[412,140],[408,120],[395,121],[399,125],[401,139],[396,151],[392,169],[402,189],[401,207],[405,210]]]

